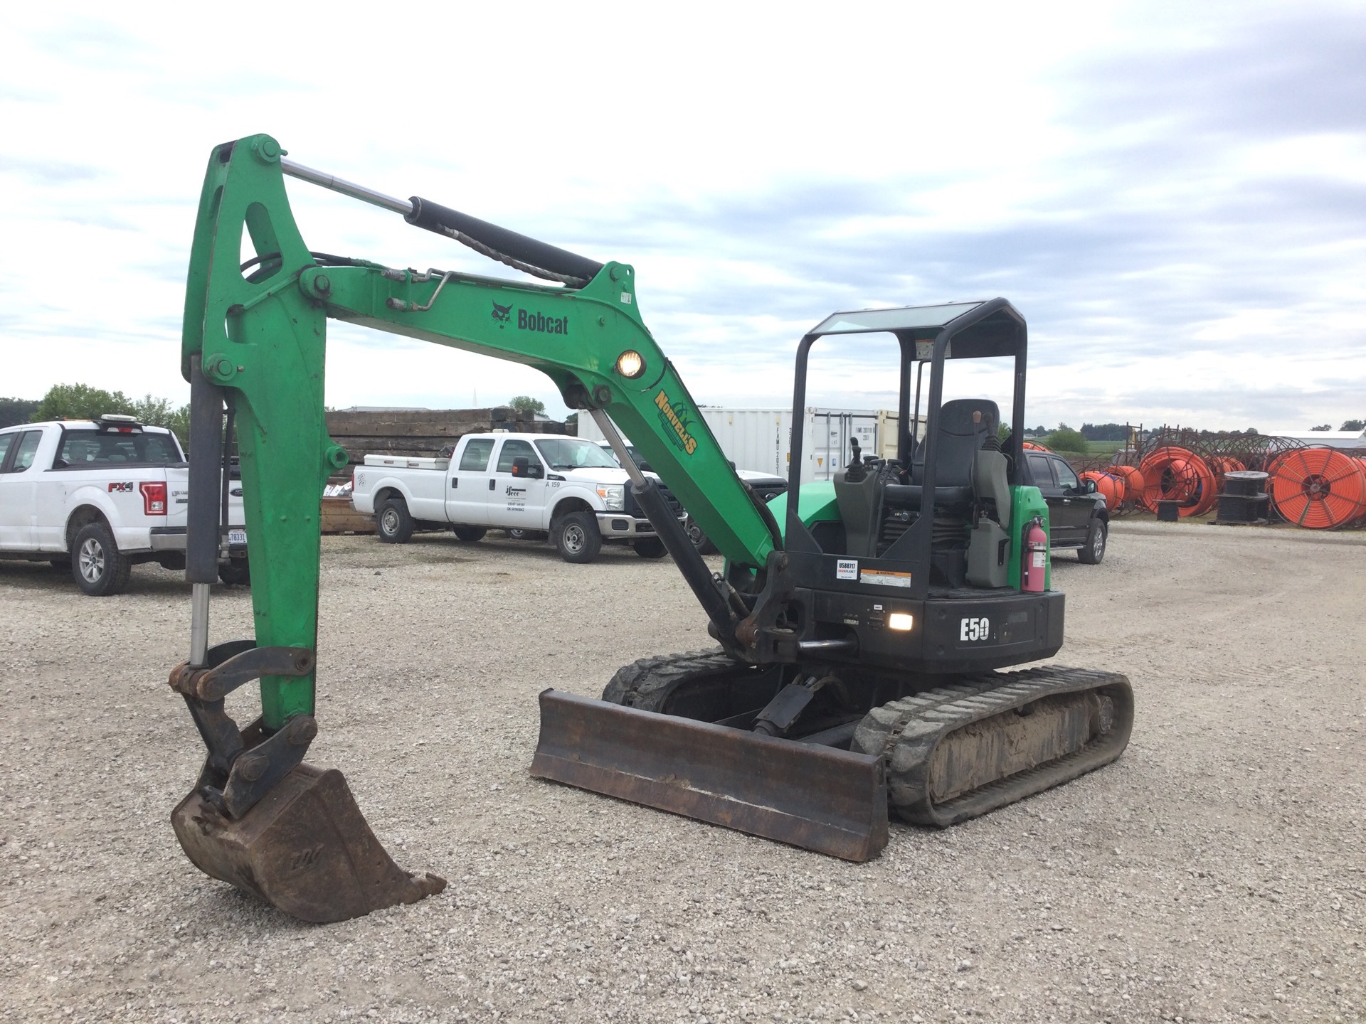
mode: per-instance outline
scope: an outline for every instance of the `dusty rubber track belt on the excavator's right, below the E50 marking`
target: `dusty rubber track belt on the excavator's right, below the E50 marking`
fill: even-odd
[[[1113,700],[1115,721],[1108,732],[1079,751],[988,782],[943,804],[930,799],[930,759],[940,740],[951,732],[1040,698],[1079,691],[1100,691]],[[1134,694],[1128,679],[1115,672],[1049,665],[967,676],[952,685],[876,707],[859,722],[852,750],[884,755],[888,800],[897,816],[945,829],[1111,763],[1128,745],[1132,726]]]

